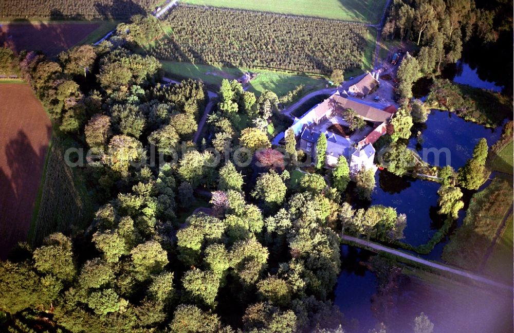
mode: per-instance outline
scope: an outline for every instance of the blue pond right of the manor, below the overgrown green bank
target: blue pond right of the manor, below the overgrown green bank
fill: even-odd
[[[416,125],[412,132],[415,135],[421,133],[421,139],[413,137],[409,140],[409,147],[417,150],[421,158],[432,165],[451,165],[457,170],[471,158],[481,138],[486,138],[489,146],[493,145],[500,138],[502,127],[493,130],[448,111],[432,110],[427,122]]]

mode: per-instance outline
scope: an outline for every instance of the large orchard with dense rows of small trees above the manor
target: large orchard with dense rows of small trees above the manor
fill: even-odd
[[[371,46],[365,25],[323,18],[179,5],[167,20],[158,59],[329,74],[360,68]]]

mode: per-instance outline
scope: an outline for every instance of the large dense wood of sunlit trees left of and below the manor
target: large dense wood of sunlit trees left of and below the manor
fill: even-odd
[[[334,188],[316,173],[290,181],[299,152],[294,137],[287,139],[290,157],[269,149],[264,126],[278,116],[279,103],[271,91],[257,98],[224,80],[208,120],[215,136],[196,146],[191,138],[205,87],[192,80],[161,85],[160,64],[133,53],[132,42],[122,35],[56,60],[20,54],[21,72],[48,110],[54,135],[90,150],[73,162],[97,209],[85,228],[36,238],[34,247],[20,243],[0,264],[0,325],[342,331],[348,321],[331,301],[341,220],[348,232],[398,239],[405,216],[343,203],[350,182],[344,159]],[[219,154],[227,147],[241,153]],[[373,174],[357,178],[356,193],[368,197]],[[205,190],[209,207],[193,213]]]

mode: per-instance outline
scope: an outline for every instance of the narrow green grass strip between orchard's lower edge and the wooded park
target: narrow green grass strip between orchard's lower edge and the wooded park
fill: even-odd
[[[247,71],[246,69],[195,65],[185,62],[161,61],[161,63],[162,69],[169,76],[200,79],[208,85],[215,86],[221,85],[223,79],[236,80]],[[326,84],[323,79],[303,75],[291,75],[264,69],[252,69],[250,71],[259,75],[250,82],[251,87],[248,90],[258,95],[267,89],[281,97],[300,84],[305,85],[303,93],[307,94],[309,91],[324,88]]]

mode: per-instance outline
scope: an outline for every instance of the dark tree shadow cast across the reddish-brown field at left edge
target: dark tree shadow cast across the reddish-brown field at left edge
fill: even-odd
[[[51,126],[46,126],[46,136]],[[35,144],[36,149],[33,148]],[[30,142],[19,131],[6,143],[7,165],[0,166],[0,258],[5,259],[17,242],[27,239],[34,203],[44,168],[48,143]]]

